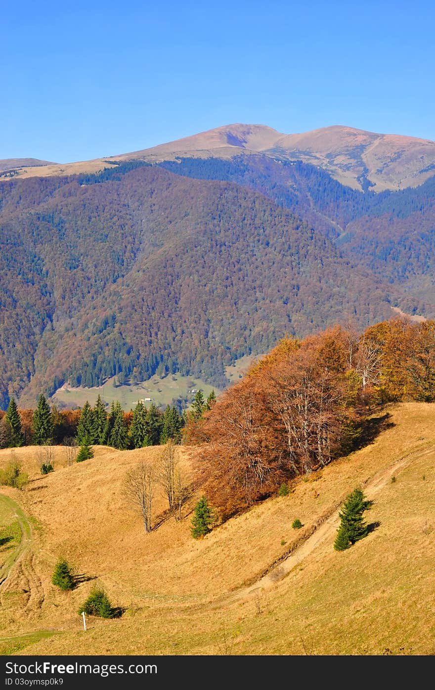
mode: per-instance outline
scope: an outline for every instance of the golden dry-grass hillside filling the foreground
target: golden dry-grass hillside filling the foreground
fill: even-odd
[[[388,406],[372,432],[360,451],[200,541],[190,537],[195,497],[181,522],[171,517],[145,535],[121,495],[125,471],[144,457],[155,462],[159,447],[99,447],[72,467],[58,447],[45,477],[37,449],[17,449],[32,482],[26,493],[4,494],[30,515],[32,542],[0,588],[3,649],[219,654],[226,644],[233,654],[433,653],[435,405]],[[180,452],[188,472],[188,451]],[[0,451],[2,464],[9,455]],[[336,507],[356,484],[374,501],[367,520],[379,524],[339,553]],[[154,521],[164,510],[159,495]],[[70,593],[50,584],[61,554],[83,575]],[[126,610],[117,620],[90,619],[84,633],[77,608],[94,582]]]

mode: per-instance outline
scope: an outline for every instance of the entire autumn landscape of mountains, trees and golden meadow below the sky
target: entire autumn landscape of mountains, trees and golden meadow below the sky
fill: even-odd
[[[434,652],[434,146],[237,125],[2,161],[3,654]]]

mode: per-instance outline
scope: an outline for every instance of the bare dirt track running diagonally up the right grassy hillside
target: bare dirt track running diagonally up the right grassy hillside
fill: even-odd
[[[362,489],[367,496],[368,500],[373,500],[376,494],[383,489],[383,487],[391,481],[393,475],[405,469],[416,460],[418,457],[423,455],[428,455],[433,453],[433,446],[427,451],[410,451],[405,457],[400,460],[396,460],[394,464],[390,465],[383,471],[374,475],[370,480],[363,484]],[[261,591],[267,591],[267,589],[272,588],[276,582],[282,580],[285,575],[288,575],[295,566],[299,565],[308,555],[313,553],[315,549],[318,548],[325,540],[331,539],[336,533],[336,529],[340,524],[340,517],[338,511],[340,509],[335,509],[332,514],[325,519],[322,524],[320,524],[314,532],[304,540],[300,546],[290,553],[287,558],[280,558],[275,561],[268,572],[261,576],[259,580],[256,580],[253,584],[247,585],[238,589],[234,593],[227,595],[225,599],[227,602],[235,602],[244,598],[250,598],[251,595],[256,595]]]

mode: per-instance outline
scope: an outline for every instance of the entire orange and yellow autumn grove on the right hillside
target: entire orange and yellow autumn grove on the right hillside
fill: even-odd
[[[435,322],[394,319],[283,339],[185,438],[200,444],[205,494],[232,515],[354,447],[367,410],[435,401]]]

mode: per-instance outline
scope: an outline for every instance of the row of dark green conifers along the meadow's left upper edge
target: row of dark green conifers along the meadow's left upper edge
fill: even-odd
[[[106,411],[101,397],[92,407],[85,402],[81,410],[59,412],[44,397],[39,396],[37,408],[20,410],[11,398],[6,414],[0,420],[0,448],[23,445],[70,445],[74,440],[81,447],[81,460],[92,457],[92,445],[107,445],[119,450],[156,446],[172,440],[181,443],[185,422],[202,418],[216,400],[214,391],[205,400],[202,391],[196,393],[192,410],[181,415],[175,406],[161,411],[154,404],[146,408],[138,402],[128,413],[120,402],[112,402]]]

